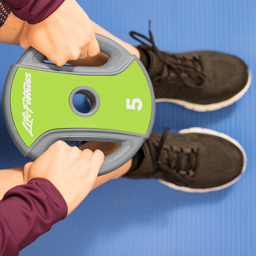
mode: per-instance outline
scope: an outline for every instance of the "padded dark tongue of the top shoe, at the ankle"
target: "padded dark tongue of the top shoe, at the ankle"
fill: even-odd
[[[147,63],[146,66],[148,66],[147,71],[151,79],[154,79],[156,76],[159,76],[163,73],[164,70],[164,64],[159,59],[159,57],[154,53],[152,50],[145,48],[143,45],[138,46],[138,49],[140,52],[143,52],[142,54],[147,54],[147,60],[149,60],[149,63]],[[144,60],[144,56],[143,59]],[[143,61],[142,61],[143,63]],[[143,63],[144,64],[144,63]]]

